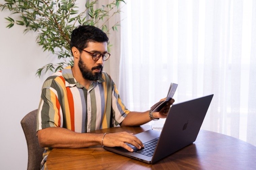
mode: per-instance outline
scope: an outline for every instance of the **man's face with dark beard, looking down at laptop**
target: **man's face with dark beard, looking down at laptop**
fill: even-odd
[[[84,48],[86,51],[94,53],[100,52],[104,53],[107,51],[106,42],[89,42],[88,46]],[[95,81],[102,76],[104,61],[100,57],[97,61],[92,59],[92,55],[82,51],[78,61],[78,67],[83,75],[84,79]]]

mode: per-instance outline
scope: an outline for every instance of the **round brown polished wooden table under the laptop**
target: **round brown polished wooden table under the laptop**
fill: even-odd
[[[94,131],[139,133],[150,126],[116,127]],[[105,151],[102,146],[90,148],[54,148],[47,158],[49,169],[256,169],[256,147],[242,140],[207,130],[200,130],[196,141],[156,162],[143,163]]]

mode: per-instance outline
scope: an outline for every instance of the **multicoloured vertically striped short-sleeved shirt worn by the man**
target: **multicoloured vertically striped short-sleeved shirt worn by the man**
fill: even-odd
[[[130,111],[120,99],[115,83],[103,72],[88,89],[73,77],[71,66],[43,83],[37,114],[37,130],[63,127],[85,133],[119,125]],[[45,148],[44,160],[51,148]]]

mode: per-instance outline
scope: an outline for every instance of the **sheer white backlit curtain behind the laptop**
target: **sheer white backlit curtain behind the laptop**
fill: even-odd
[[[202,129],[256,145],[256,1],[127,1],[119,91],[148,110],[178,83],[175,102],[214,94]]]

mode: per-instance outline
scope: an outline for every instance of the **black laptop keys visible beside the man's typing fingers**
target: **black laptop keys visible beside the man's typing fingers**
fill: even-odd
[[[142,154],[142,155],[146,155],[146,156],[153,156],[154,152],[155,152],[155,148],[156,148],[156,144],[158,142],[158,138],[155,138],[151,141],[148,141],[146,143],[143,143],[144,144],[144,147],[141,148],[141,149],[138,149],[137,147],[133,147],[133,152],[136,152],[136,153],[139,153],[139,154]]]

